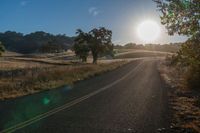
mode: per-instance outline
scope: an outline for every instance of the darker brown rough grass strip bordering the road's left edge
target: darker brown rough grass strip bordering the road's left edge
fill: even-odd
[[[0,75],[0,99],[15,98],[73,84],[76,81],[113,70],[126,63],[127,61],[116,61],[97,65],[73,64],[7,70]]]

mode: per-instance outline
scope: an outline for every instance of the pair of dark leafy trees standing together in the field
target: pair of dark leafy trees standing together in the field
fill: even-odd
[[[73,50],[75,54],[87,61],[89,52],[93,57],[93,63],[96,64],[99,56],[113,56],[112,31],[104,27],[94,28],[88,33],[78,29],[74,41]]]

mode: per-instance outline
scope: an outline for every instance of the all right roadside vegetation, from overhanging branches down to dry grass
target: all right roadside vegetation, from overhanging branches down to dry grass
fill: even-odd
[[[171,86],[173,123],[183,132],[200,132],[200,1],[154,0],[169,35],[188,36],[180,50],[160,64]]]

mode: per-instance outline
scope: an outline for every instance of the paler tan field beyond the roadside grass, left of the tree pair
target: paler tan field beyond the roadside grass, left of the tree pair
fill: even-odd
[[[3,57],[0,57],[0,71],[27,69],[35,67],[51,67],[55,65],[71,65],[74,60],[73,52],[55,53],[55,54],[18,54],[6,51]]]

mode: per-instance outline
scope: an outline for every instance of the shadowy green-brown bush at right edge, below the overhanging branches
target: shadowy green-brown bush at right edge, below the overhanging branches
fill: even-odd
[[[181,67],[188,88],[200,89],[200,41],[188,40],[178,54],[171,58],[171,64]]]

